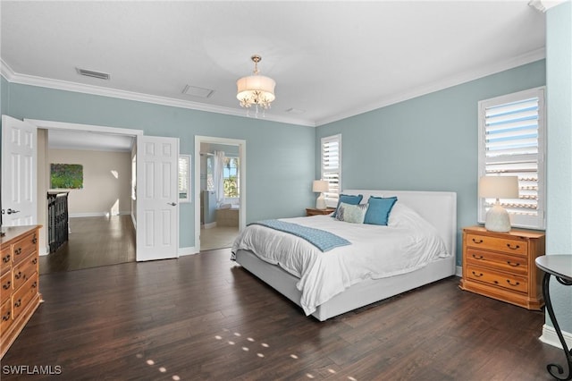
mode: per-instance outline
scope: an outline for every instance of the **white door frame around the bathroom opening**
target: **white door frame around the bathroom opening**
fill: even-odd
[[[240,160],[240,209],[239,209],[239,231],[247,225],[247,140],[217,138],[213,136],[195,135],[195,172],[193,181],[195,182],[195,250],[200,251],[200,145],[201,143],[224,144],[228,146],[239,146]]]

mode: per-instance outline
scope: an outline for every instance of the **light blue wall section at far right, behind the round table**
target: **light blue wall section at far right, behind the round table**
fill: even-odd
[[[546,252],[572,255],[572,4],[549,9],[546,25]],[[551,300],[560,328],[572,334],[572,287],[552,279]]]

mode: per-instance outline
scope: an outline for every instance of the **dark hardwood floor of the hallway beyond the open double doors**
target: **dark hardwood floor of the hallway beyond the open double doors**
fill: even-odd
[[[69,224],[69,241],[39,257],[40,275],[135,261],[131,216],[74,217]]]

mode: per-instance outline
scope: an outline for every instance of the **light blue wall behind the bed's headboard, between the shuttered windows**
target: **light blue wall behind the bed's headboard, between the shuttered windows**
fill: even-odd
[[[542,60],[320,126],[316,176],[320,139],[341,133],[342,189],[456,191],[460,265],[460,228],[477,220],[477,102],[545,83]]]

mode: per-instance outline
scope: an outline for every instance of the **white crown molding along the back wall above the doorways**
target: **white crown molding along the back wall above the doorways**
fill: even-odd
[[[72,92],[97,95],[102,97],[115,97],[126,100],[134,100],[137,102],[151,103],[155,105],[188,108],[191,110],[206,111],[207,113],[226,114],[226,115],[240,116],[243,118],[252,119],[252,117],[247,116],[245,114],[245,111],[242,108],[212,106],[198,102],[175,99],[171,97],[158,97],[149,94],[137,93],[133,91],[109,89],[99,86],[71,82],[67,80],[52,80],[49,78],[37,77],[34,75],[21,74],[14,72],[13,69],[10,67],[10,65],[5,63],[4,60],[1,58],[0,58],[0,73],[9,82],[18,83],[21,85],[72,91]],[[315,123],[311,121],[307,121],[304,119],[297,119],[297,118],[281,117],[272,114],[266,114],[265,118],[261,120],[315,127]]]

